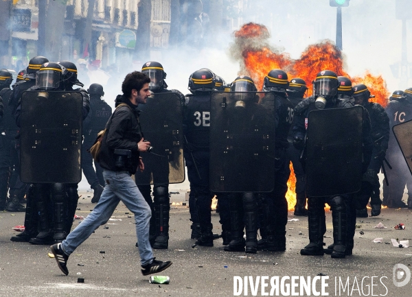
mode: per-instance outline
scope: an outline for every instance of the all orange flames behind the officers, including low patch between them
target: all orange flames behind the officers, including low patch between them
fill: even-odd
[[[279,53],[268,44],[270,34],[264,25],[248,23],[234,33],[235,45],[231,47],[232,56],[240,62],[239,75],[249,75],[257,88],[263,85],[264,77],[272,69],[283,69],[289,78],[302,78],[308,85],[308,96],[312,95],[312,80],[322,70],[334,71],[337,75],[350,78],[344,70],[341,51],[330,41],[310,45],[298,60],[293,60],[286,53]],[[351,79],[351,78],[350,78]],[[365,84],[375,98],[371,101],[382,106],[387,105],[389,92],[385,80],[381,75],[374,76],[366,73],[364,78],[353,78],[352,85]],[[296,203],[295,174],[290,165],[290,178],[288,180],[288,209],[293,210]]]

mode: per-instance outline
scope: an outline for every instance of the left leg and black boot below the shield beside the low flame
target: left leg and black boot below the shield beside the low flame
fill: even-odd
[[[324,206],[322,198],[308,198],[309,244],[301,249],[301,255],[323,256]]]

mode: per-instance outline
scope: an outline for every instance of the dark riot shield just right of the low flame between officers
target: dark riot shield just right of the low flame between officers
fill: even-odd
[[[363,108],[312,110],[306,138],[308,197],[355,193],[362,182]]]

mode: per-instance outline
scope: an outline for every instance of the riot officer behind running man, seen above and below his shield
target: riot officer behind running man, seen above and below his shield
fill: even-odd
[[[141,73],[146,74],[150,78],[149,89],[155,95],[157,93],[173,92],[179,95],[182,104],[185,102],[185,97],[181,92],[174,89],[168,90],[168,84],[165,82],[166,73],[159,62],[150,61],[144,63],[141,67]],[[146,108],[148,108],[147,105],[142,106],[142,112],[145,112]],[[143,121],[143,119],[141,119],[141,121]],[[169,243],[170,214],[168,158],[154,154],[146,154],[146,156],[142,155],[142,157],[145,160],[145,170],[144,172],[138,171],[135,178],[139,191],[152,210],[149,240],[152,248],[167,249]],[[153,178],[153,201],[150,196],[151,176]]]

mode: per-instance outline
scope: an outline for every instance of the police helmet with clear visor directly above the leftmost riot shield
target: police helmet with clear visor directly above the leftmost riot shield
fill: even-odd
[[[60,82],[66,72],[65,67],[55,62],[45,62],[36,73],[38,89],[53,91],[60,88]]]

